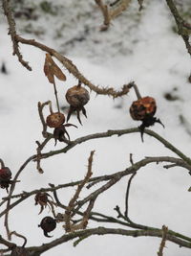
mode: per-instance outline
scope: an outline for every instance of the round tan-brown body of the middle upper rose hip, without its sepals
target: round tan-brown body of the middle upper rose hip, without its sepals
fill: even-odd
[[[66,93],[66,100],[76,109],[80,109],[83,105],[86,105],[89,102],[90,94],[85,88],[74,85],[68,89]]]

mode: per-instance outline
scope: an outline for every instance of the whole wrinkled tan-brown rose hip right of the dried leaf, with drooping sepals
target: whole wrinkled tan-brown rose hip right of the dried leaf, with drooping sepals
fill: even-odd
[[[78,85],[74,85],[73,87],[68,89],[66,93],[66,100],[70,104],[67,122],[69,121],[71,114],[76,111],[77,119],[81,124],[79,112],[82,111],[84,116],[87,118],[84,105],[86,105],[90,100],[89,92],[85,88],[81,87],[81,83],[79,82]]]

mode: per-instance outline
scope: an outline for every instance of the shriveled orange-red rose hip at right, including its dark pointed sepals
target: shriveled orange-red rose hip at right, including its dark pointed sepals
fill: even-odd
[[[152,97],[147,96],[138,99],[138,101],[133,102],[129,110],[134,120],[142,121],[142,124],[139,126],[142,141],[145,128],[153,126],[155,123],[163,126],[161,121],[154,117],[157,105],[155,99]]]

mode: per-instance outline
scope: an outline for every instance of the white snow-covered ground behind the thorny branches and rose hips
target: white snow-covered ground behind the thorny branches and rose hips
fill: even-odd
[[[36,1],[37,2],[37,1]],[[39,1],[38,1],[39,2]],[[57,1],[61,4],[62,1]],[[32,1],[27,1],[32,4]],[[65,1],[65,9],[59,8],[59,15],[41,15],[37,20],[17,21],[19,33],[24,37],[37,38],[39,41],[53,47],[67,58],[73,60],[80,72],[89,80],[101,86],[113,86],[119,89],[124,83],[136,81],[143,96],[152,96],[158,102],[156,116],[165,125],[163,129],[156,124],[152,129],[168,139],[180,151],[190,156],[191,145],[191,84],[188,82],[190,74],[190,57],[179,35],[173,32],[174,19],[170,15],[164,1],[154,0],[145,4],[143,12],[138,13],[138,4],[133,3],[130,11],[124,12],[116,20],[108,32],[100,33],[102,22],[101,13],[94,4],[86,1]],[[76,8],[76,9],[74,9]],[[79,15],[77,25],[74,10]],[[137,14],[135,14],[137,13]],[[62,28],[63,15],[65,27]],[[135,19],[133,18],[135,16]],[[71,22],[73,20],[73,22]],[[11,55],[11,39],[7,35],[7,25],[3,15],[0,25],[0,60],[5,61],[9,75],[0,74],[0,157],[11,168],[14,175],[23,162],[35,153],[35,141],[42,140],[41,124],[37,113],[37,103],[52,100],[54,107],[53,86],[43,74],[45,53],[30,46],[21,45],[24,59],[29,60],[32,72],[26,70]],[[25,32],[28,23],[41,28],[43,34],[29,35]],[[68,22],[68,23],[67,23]],[[26,25],[27,24],[27,25]],[[62,28],[62,30],[60,29]],[[84,35],[85,29],[89,31]],[[55,31],[61,32],[55,37]],[[74,38],[85,36],[82,41]],[[70,41],[73,43],[67,43]],[[56,81],[59,101],[62,106],[67,105],[65,93],[76,80],[65,71],[67,81]],[[178,97],[176,101],[167,101],[166,93]],[[115,128],[134,128],[139,123],[131,119],[129,106],[136,100],[132,90],[127,96],[115,101],[105,96],[91,93],[91,101],[86,106],[88,119],[82,117],[81,127],[74,116],[70,122],[78,129],[68,128],[72,139],[87,134],[106,131]],[[186,127],[180,122],[180,115],[186,119]],[[45,151],[56,148],[51,141]],[[173,155],[165,149],[155,138],[144,135],[144,143],[140,136],[127,134],[121,137],[113,136],[107,139],[88,141],[67,154],[60,154],[42,161],[44,174],[39,175],[35,164],[30,163],[20,175],[21,182],[17,184],[15,193],[31,191],[41,187],[48,187],[48,183],[55,185],[81,179],[86,172],[87,158],[90,151],[96,150],[94,157],[94,175],[109,175],[127,168],[129,154],[133,153],[134,161],[145,156]],[[96,201],[95,211],[116,217],[113,210],[116,205],[124,211],[124,197],[127,178]],[[180,167],[165,170],[162,165],[151,164],[142,168],[135,177],[131,187],[130,218],[133,221],[150,226],[161,227],[167,225],[169,229],[190,236],[190,175]],[[93,187],[93,190],[96,190]],[[6,191],[1,190],[1,197]],[[73,195],[74,189],[60,190],[61,201],[67,203]],[[83,195],[86,195],[84,192]],[[25,235],[28,246],[48,243],[63,234],[62,224],[52,232],[53,238],[47,239],[38,228],[44,216],[50,215],[48,209],[38,216],[39,207],[34,207],[33,198],[15,207],[10,215],[11,230]],[[60,212],[60,210],[58,210]],[[4,230],[3,220],[1,233]],[[103,225],[90,221],[89,227]],[[107,226],[107,225],[105,225]],[[111,225],[110,225],[111,226]],[[117,225],[113,225],[116,226]],[[118,226],[121,227],[122,226]],[[4,233],[3,233],[4,234]],[[20,244],[21,240],[14,239]],[[91,237],[73,246],[73,242],[61,244],[43,255],[110,255],[125,256],[157,255],[160,239],[157,238],[129,238],[121,236]],[[176,244],[167,242],[165,256],[187,256],[189,250],[180,248]]]

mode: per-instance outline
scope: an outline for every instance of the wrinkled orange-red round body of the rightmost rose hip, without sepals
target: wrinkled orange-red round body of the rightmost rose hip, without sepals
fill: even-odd
[[[130,107],[130,114],[134,120],[144,120],[148,117],[153,117],[156,113],[156,101],[152,97],[143,97],[138,101],[133,102]]]

